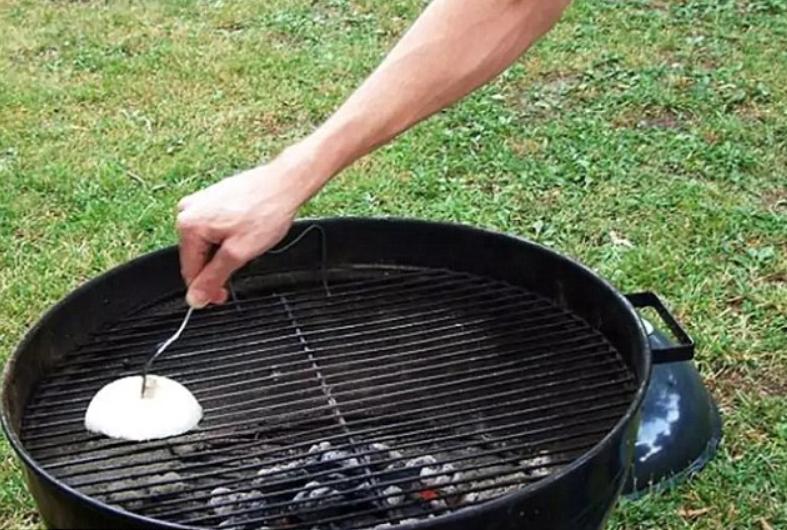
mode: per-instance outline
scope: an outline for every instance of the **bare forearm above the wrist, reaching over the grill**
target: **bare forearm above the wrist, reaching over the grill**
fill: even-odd
[[[308,195],[358,158],[483,85],[560,17],[568,0],[434,0],[380,66],[299,150]]]

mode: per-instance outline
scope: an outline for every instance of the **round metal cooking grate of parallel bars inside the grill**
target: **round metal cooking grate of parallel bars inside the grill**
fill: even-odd
[[[97,331],[36,389],[22,439],[56,478],[160,520],[374,528],[542,479],[622,417],[635,379],[605,338],[520,288],[446,270],[355,266],[248,276],[197,312],[155,373],[200,427],[131,443],[85,408],[138,371],[182,317],[160,301]]]

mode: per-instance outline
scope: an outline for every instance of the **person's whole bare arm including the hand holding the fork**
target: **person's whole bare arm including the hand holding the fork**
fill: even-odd
[[[275,245],[333,176],[483,85],[559,19],[568,0],[434,0],[375,71],[312,134],[271,162],[179,204],[193,306],[221,303],[230,275]]]

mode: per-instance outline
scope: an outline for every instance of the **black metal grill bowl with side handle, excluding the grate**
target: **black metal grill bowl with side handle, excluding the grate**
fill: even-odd
[[[618,498],[634,454],[640,406],[653,362],[685,361],[693,347],[655,296],[620,294],[576,261],[532,242],[461,225],[406,219],[323,219],[328,267],[374,264],[449,269],[518,286],[578,316],[619,352],[634,374],[630,405],[606,436],[559,471],[514,493],[401,528],[600,528]],[[290,240],[311,221],[295,224]],[[315,269],[320,247],[301,244],[247,267],[255,274]],[[177,250],[167,248],[86,283],[50,309],[9,359],[3,378],[2,423],[23,462],[27,483],[55,528],[187,528],[122,510],[56,478],[20,435],[36,385],[92,332],[163,295],[182,295]],[[633,303],[632,303],[633,302]],[[635,306],[656,307],[685,342],[654,350]]]

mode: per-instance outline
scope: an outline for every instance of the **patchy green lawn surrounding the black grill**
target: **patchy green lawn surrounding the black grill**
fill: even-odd
[[[0,358],[68,291],[175,242],[178,198],[324,119],[423,2],[0,4]],[[304,215],[523,235],[698,343],[725,440],[611,529],[787,528],[787,2],[576,2],[531,53]],[[0,441],[0,528],[40,526]]]

